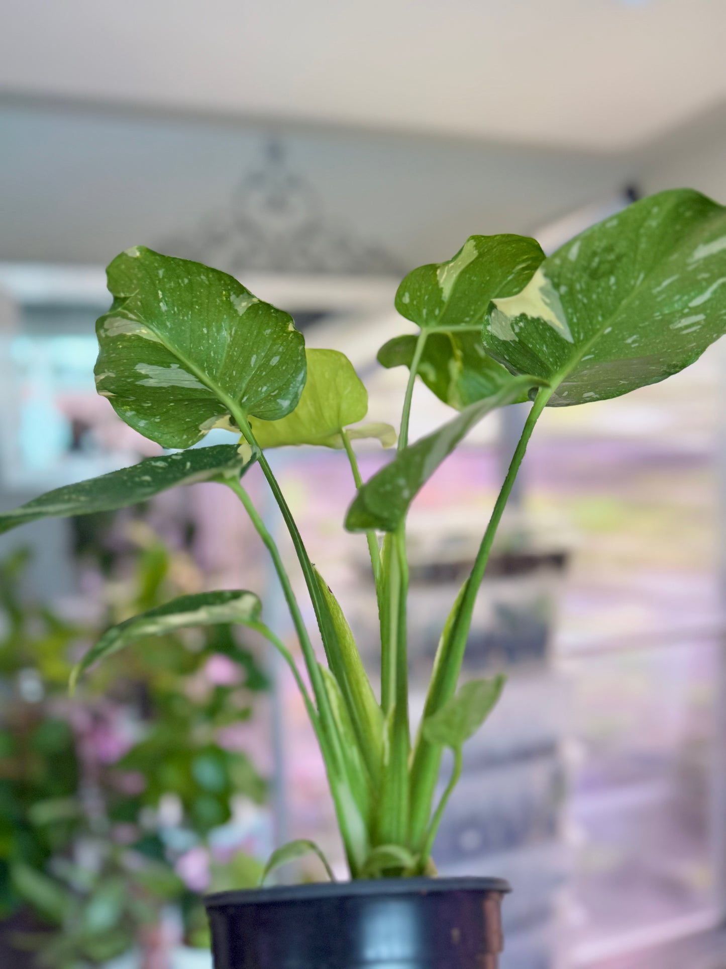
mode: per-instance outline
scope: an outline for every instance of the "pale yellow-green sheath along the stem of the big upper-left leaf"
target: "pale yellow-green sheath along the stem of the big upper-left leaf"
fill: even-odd
[[[317,569],[315,574],[336,634],[337,649],[336,655],[331,657],[334,660],[331,669],[336,672],[336,679],[346,698],[346,705],[363,758],[372,779],[376,782],[380,776],[383,751],[383,713],[361,661],[348,619],[330,586]]]

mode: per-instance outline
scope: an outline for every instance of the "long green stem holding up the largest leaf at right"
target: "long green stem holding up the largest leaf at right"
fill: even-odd
[[[512,456],[509,470],[499,490],[494,511],[489,519],[489,524],[481,540],[473,568],[467,579],[464,596],[462,597],[461,605],[452,624],[451,634],[448,641],[443,644],[444,652],[437,657],[434,675],[426,697],[423,719],[432,716],[443,703],[446,703],[453,697],[456,691],[456,684],[459,680],[459,673],[461,672],[464,659],[464,651],[467,647],[467,638],[469,636],[471,616],[473,614],[476,596],[482,578],[484,577],[484,570],[486,569],[489,554],[492,550],[495,536],[497,535],[499,522],[504,513],[507,499],[514,486],[517,472],[527,451],[527,445],[534,425],[544,410],[547,401],[552,396],[552,393],[553,390],[550,387],[540,388],[529,411],[522,436]],[[411,766],[411,843],[413,845],[419,843],[424,837],[427,822],[431,814],[431,804],[436,790],[437,779],[439,777],[440,760],[440,747],[429,743],[423,734],[419,732]]]

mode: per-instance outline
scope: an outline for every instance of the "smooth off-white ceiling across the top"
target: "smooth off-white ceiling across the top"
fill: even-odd
[[[724,0],[4,0],[0,88],[621,151],[726,96]]]

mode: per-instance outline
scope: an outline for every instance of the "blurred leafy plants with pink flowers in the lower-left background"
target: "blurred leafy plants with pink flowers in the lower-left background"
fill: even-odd
[[[141,519],[88,525],[76,550],[97,615],[28,602],[26,552],[0,563],[0,954],[86,969],[136,950],[165,969],[180,937],[207,944],[198,892],[261,870],[229,823],[265,784],[226,729],[267,680],[218,626],[119,654],[70,698],[74,662],[107,625],[202,588],[191,556]]]

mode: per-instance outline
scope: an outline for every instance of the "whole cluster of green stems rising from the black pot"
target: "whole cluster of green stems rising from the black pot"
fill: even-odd
[[[411,399],[426,336],[425,330],[419,334],[409,367],[398,440],[399,452],[403,451],[408,445]],[[550,392],[545,388],[540,389],[532,404],[469,578],[449,615],[426,697],[424,719],[436,713],[455,693],[469,636],[477,591],[484,575],[507,499],[522,464],[529,437],[535,422],[549,399]],[[229,399],[227,406],[232,418],[237,422],[242,432],[242,437],[256,453],[262,473],[285,520],[316,613],[328,666],[331,672],[335,672],[335,656],[330,655],[329,647],[329,643],[335,641],[335,633],[330,629],[330,612],[325,608],[315,569],[297,525],[287,507],[281,487],[264,453],[257,446],[250,423],[233,400]],[[345,429],[342,430],[342,438],[357,488],[363,483],[355,453]],[[280,549],[261,516],[257,513],[257,509],[245,488],[236,479],[228,480],[227,485],[237,494],[244,505],[259,537],[270,553],[282,585],[287,608],[304,658],[312,695],[285,644],[274,634],[270,634],[269,630],[265,630],[265,635],[284,656],[302,694],[325,762],[336,815],[346,847],[350,874],[354,878],[362,877],[366,858],[356,852],[354,847],[359,832],[354,829],[356,822],[350,811],[349,799],[345,796],[346,751],[344,750],[344,740],[337,727],[335,712],[332,709],[329,693],[325,688],[323,671],[318,664],[318,657],[303,621]],[[408,870],[407,865],[402,861],[400,868],[393,868],[386,873],[416,874],[431,870],[431,850],[441,815],[461,774],[461,751],[455,753],[451,779],[439,800],[438,806],[434,809],[441,763],[441,747],[428,741],[421,731],[418,732],[415,741],[412,742],[408,722],[408,558],[405,521],[396,531],[386,534],[380,544],[378,535],[373,530],[367,533],[366,538],[378,602],[380,628],[379,703],[382,717],[387,725],[387,743],[389,746],[385,761],[386,775],[379,778],[381,802],[378,805],[376,826],[373,831],[367,832],[368,844],[372,847],[376,845],[399,846],[410,853],[412,858],[415,858],[415,870]]]

